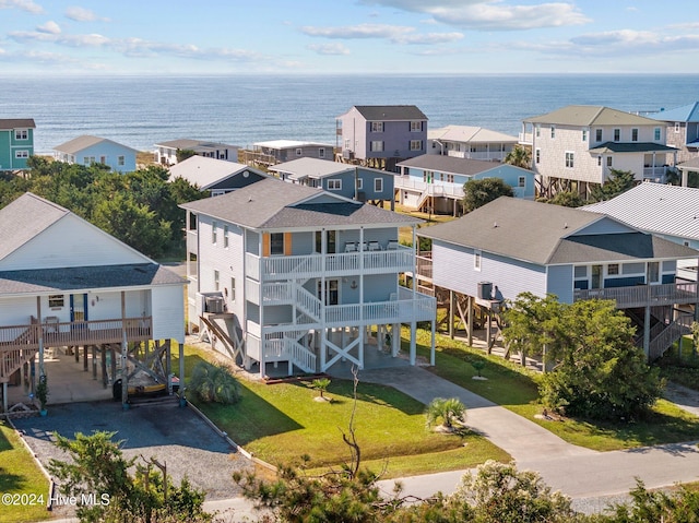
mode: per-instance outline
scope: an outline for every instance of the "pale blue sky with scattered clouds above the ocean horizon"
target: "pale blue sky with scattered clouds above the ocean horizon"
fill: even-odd
[[[697,0],[0,0],[0,75],[699,73]]]

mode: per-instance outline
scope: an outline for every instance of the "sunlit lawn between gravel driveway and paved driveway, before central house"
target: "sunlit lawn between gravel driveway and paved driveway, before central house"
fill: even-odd
[[[206,354],[187,347],[191,368]],[[256,456],[273,463],[291,463],[301,455],[310,467],[336,466],[350,459],[342,441],[348,432],[353,408],[353,384],[333,379],[327,396],[308,381],[268,385],[240,380],[242,399],[233,406],[199,404],[189,397],[234,441]],[[399,477],[436,471],[472,467],[486,460],[507,462],[509,454],[486,439],[466,433],[440,435],[425,426],[425,406],[389,387],[359,382],[355,432],[364,465]]]

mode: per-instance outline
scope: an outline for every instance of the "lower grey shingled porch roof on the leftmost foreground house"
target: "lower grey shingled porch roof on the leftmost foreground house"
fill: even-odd
[[[0,295],[35,295],[186,283],[185,278],[157,263],[2,271]]]

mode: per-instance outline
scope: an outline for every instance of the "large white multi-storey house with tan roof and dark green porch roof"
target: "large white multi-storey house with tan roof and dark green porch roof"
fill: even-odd
[[[602,106],[571,105],[522,122],[520,142],[532,147],[532,170],[542,192],[577,191],[583,198],[612,169],[638,181],[664,181],[676,148],[665,144],[665,126]]]

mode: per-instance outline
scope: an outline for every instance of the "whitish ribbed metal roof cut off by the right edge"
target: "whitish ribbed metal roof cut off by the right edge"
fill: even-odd
[[[638,229],[699,240],[699,189],[645,181],[582,210],[606,214]]]

